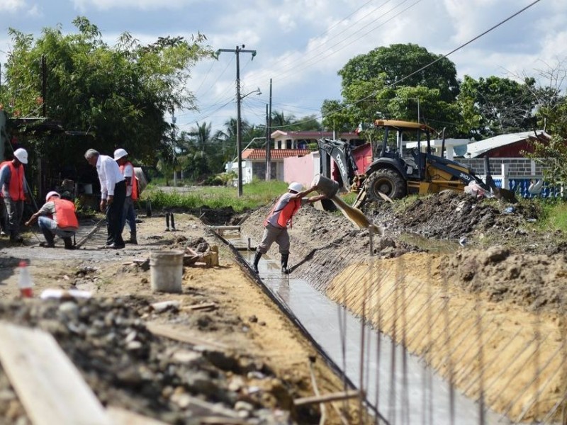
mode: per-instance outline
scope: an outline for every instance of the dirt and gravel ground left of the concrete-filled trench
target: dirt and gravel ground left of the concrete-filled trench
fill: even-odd
[[[322,394],[341,391],[342,382],[228,249],[219,246],[219,266],[186,266],[181,294],[152,293],[144,263],[150,251],[206,251],[218,244],[193,215],[176,213],[175,220],[176,232],[167,232],[163,216],[142,218],[140,244],[117,251],[96,249],[104,229],[75,251],[0,241],[0,319],[53,334],[106,407],[166,423],[213,416],[230,423],[317,422],[317,405],[293,407],[293,399],[314,394],[310,364]],[[37,242],[31,233],[26,239]],[[21,259],[29,263],[33,300],[18,298]],[[47,289],[85,290],[92,297],[40,300]],[[0,423],[28,423],[4,373],[0,394]],[[329,405],[327,423],[344,423],[340,415],[357,418],[357,403],[339,415],[343,406]]]

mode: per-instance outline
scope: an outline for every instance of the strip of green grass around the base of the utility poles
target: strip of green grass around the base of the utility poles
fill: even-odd
[[[142,194],[143,200],[150,200],[152,208],[228,208],[235,212],[243,212],[273,202],[287,189],[283,181],[252,181],[242,185],[242,196],[238,196],[237,188],[225,186],[195,186],[186,191],[179,188],[162,191],[150,187]]]

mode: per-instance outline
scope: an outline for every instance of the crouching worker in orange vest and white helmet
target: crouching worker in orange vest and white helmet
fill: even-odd
[[[65,249],[74,249],[71,238],[79,229],[74,203],[61,199],[59,193],[51,191],[45,196],[45,204],[30,217],[26,226],[33,225],[36,220],[45,237],[45,242],[41,242],[40,246],[53,248],[55,236],[58,236],[63,239]]]

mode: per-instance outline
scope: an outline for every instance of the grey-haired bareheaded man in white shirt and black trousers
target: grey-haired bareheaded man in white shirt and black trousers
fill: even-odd
[[[124,200],[126,199],[126,182],[112,157],[101,155],[95,149],[89,149],[84,157],[91,166],[96,167],[101,182],[101,211],[106,212],[106,230],[108,237],[104,248],[122,249],[124,239],[120,231]]]

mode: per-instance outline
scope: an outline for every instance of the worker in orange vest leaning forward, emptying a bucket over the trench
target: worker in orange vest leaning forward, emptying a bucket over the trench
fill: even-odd
[[[262,242],[256,249],[254,254],[254,263],[252,268],[258,273],[258,263],[262,254],[270,249],[271,244],[276,242],[279,245],[281,254],[281,273],[289,273],[288,258],[289,258],[289,234],[288,226],[291,228],[293,215],[298,212],[299,208],[306,203],[314,203],[318,200],[326,198],[325,195],[312,196],[304,198],[304,196],[315,191],[316,187],[312,186],[303,191],[301,183],[293,182],[288,186],[288,191],[283,193],[282,196],[271,208],[271,211],[264,220],[264,234],[262,235]]]

